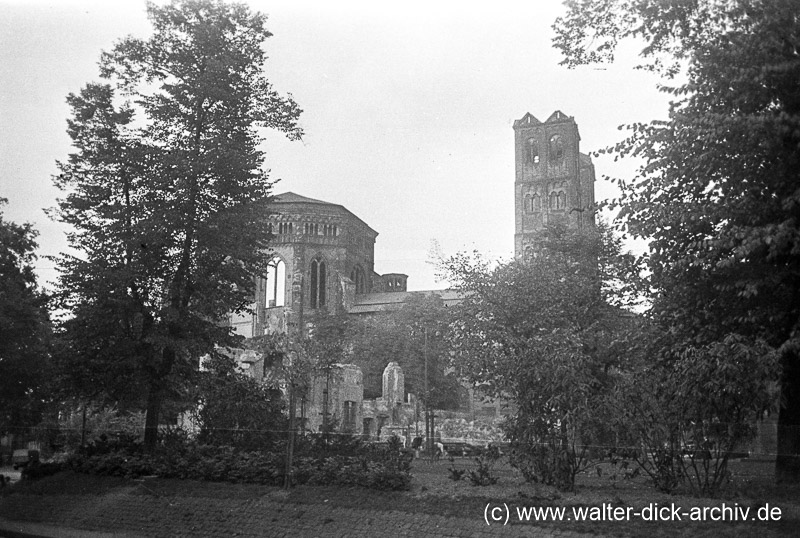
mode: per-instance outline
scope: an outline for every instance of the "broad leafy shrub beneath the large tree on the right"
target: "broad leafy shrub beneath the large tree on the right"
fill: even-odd
[[[765,343],[736,335],[664,357],[619,387],[619,439],[643,449],[634,459],[659,490],[713,495],[773,407],[777,369]]]

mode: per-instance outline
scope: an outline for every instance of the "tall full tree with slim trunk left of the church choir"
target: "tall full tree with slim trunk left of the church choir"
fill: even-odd
[[[301,131],[291,96],[263,75],[263,15],[219,0],[147,10],[152,36],[120,41],[103,82],[68,97],[76,151],[55,182],[78,253],[58,262],[69,360],[104,390],[144,394],[152,449],[162,402],[233,343],[220,320],[247,308],[266,271],[257,129]]]

